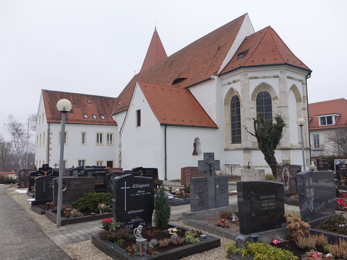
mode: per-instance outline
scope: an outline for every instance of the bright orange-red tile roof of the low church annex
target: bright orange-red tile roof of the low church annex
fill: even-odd
[[[160,124],[217,128],[188,89],[137,83]]]

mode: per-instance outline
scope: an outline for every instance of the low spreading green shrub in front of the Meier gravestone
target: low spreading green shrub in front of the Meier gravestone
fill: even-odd
[[[78,199],[73,205],[76,205],[76,208],[82,211],[91,210],[97,213],[99,203],[110,205],[111,201],[112,201],[112,198],[110,193],[88,192],[88,193],[84,193],[84,196]]]

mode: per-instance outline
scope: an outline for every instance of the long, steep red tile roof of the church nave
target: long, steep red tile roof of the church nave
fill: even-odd
[[[246,14],[189,44],[154,66],[136,74],[117,98],[113,114],[128,109],[136,81],[185,88],[216,75],[239,32]],[[188,76],[174,80],[179,75]],[[121,104],[119,104],[121,102]]]

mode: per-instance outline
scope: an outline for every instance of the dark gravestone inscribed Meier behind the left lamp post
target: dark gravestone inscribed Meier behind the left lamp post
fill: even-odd
[[[58,205],[58,179],[53,180],[53,202]],[[84,196],[83,193],[94,192],[95,177],[63,177],[62,204],[72,204]]]

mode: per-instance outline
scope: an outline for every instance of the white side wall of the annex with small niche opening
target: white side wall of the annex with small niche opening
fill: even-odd
[[[162,125],[161,128],[162,133],[164,133],[165,126]],[[166,130],[167,179],[180,179],[181,168],[183,167],[197,167],[197,161],[203,160],[203,153],[214,153],[214,158],[219,160],[221,154],[219,149],[219,137],[217,131],[218,129],[213,128],[177,127],[168,125]],[[162,136],[164,135],[162,134]],[[192,155],[194,150],[193,144],[196,137],[200,139],[201,154]],[[221,162],[221,164],[223,164],[223,162]]]

